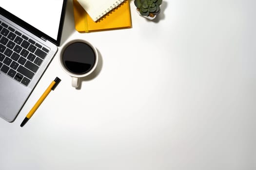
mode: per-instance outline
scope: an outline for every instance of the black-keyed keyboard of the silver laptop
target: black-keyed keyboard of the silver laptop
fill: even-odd
[[[27,86],[49,50],[0,21],[0,71]]]

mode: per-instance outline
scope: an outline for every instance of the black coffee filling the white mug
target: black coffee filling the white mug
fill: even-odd
[[[66,47],[62,54],[64,66],[74,74],[85,74],[95,64],[95,52],[86,43],[75,42]]]

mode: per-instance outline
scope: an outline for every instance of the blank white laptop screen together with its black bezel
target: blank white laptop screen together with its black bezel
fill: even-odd
[[[33,27],[34,32],[40,32],[39,36],[59,44],[65,3],[66,0],[3,0],[0,7],[19,17],[21,26]]]

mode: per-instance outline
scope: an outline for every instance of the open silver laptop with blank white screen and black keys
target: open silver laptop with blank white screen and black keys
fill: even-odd
[[[66,2],[67,0],[1,1],[0,117],[2,119],[9,122],[16,119],[56,55]],[[48,15],[45,15],[46,13]]]

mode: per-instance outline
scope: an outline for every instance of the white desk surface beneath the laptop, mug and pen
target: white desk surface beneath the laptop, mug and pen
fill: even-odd
[[[0,170],[255,170],[256,1],[164,0],[158,20],[62,43],[100,61],[79,89],[59,52],[13,123],[0,119]],[[62,81],[27,124],[51,81]]]

